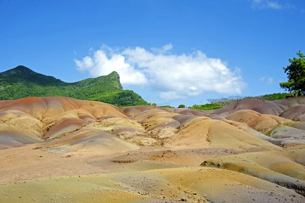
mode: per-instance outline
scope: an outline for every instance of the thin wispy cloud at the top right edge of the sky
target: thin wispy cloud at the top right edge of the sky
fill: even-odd
[[[248,2],[251,2],[251,7],[253,9],[296,9],[292,4],[280,4],[278,1],[248,0]]]

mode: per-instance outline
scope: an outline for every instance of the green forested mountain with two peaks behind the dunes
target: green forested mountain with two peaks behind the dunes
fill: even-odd
[[[23,65],[0,73],[0,100],[28,96],[67,96],[115,106],[148,105],[134,91],[123,90],[116,72],[74,83],[36,73]]]

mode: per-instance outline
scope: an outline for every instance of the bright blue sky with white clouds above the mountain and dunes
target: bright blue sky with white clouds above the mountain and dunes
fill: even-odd
[[[65,82],[117,71],[158,105],[283,91],[305,51],[302,0],[0,1],[0,72]]]

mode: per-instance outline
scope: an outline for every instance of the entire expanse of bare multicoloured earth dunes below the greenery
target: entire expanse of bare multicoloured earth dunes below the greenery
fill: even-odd
[[[0,101],[0,202],[304,202],[302,102]]]

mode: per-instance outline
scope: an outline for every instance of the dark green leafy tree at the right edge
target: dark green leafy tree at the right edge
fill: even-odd
[[[302,95],[305,91],[305,55],[301,53],[301,50],[296,55],[298,55],[298,58],[289,58],[290,65],[283,67],[288,82],[282,82],[280,86],[290,93],[296,91],[298,95]]]

